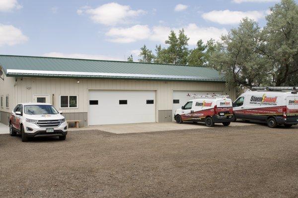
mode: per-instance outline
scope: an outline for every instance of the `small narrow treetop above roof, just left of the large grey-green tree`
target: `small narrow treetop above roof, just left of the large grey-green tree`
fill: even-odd
[[[205,50],[207,45],[204,45],[202,39],[197,42],[197,47],[189,51],[188,64],[194,66],[203,66],[205,63]]]

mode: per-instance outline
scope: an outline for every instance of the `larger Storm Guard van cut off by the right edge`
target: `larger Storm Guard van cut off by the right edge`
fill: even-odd
[[[298,94],[295,87],[253,89],[257,91],[245,92],[233,102],[235,119],[264,122],[271,128],[298,124]]]

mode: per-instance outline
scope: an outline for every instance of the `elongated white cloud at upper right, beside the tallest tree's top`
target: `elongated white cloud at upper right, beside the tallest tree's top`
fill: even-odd
[[[225,10],[213,10],[202,14],[205,20],[210,20],[220,24],[237,24],[239,21],[248,17],[254,20],[258,20],[264,17],[264,11],[230,11]]]

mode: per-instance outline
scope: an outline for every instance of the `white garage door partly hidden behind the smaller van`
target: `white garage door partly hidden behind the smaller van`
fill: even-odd
[[[181,108],[188,100],[194,99],[188,97],[190,95],[207,95],[207,94],[223,94],[223,92],[200,92],[200,91],[173,91],[173,106],[172,106],[172,118],[174,120],[174,113],[177,108]]]

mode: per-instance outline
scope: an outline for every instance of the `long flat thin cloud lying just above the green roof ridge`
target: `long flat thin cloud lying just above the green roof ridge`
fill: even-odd
[[[111,60],[111,61],[123,61],[123,58],[105,56],[105,55],[92,55],[92,54],[65,54],[60,52],[45,53],[46,57],[58,57],[58,58],[77,58],[77,59],[91,59],[91,60]]]

